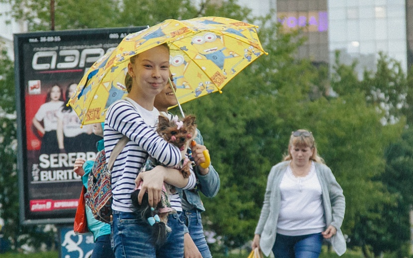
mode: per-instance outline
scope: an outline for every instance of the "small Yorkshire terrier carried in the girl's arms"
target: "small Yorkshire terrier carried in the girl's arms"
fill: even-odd
[[[172,119],[168,119],[168,117],[163,115],[159,116],[156,132],[167,142],[177,146],[183,153],[181,163],[174,168],[180,170],[185,178],[188,178],[190,175],[191,162],[184,156],[189,144],[197,135],[196,129],[195,116],[187,115],[182,120],[179,120],[178,116],[173,116]],[[153,157],[148,157],[145,165],[142,166],[139,172],[151,170],[158,165],[162,164]],[[173,211],[173,209],[171,208],[168,194],[175,193],[175,188],[172,185],[164,183],[161,201],[155,209],[149,206],[147,193],[143,195],[142,204],[138,203],[137,196],[139,191],[140,186],[131,193],[132,204],[136,208],[135,212],[141,214],[142,219],[152,226],[152,243],[156,247],[160,247],[165,243],[167,233],[171,232],[171,229],[167,226],[167,222],[168,213]]]

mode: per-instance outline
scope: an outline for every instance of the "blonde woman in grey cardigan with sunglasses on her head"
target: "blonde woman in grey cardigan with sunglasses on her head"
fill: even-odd
[[[268,175],[252,248],[266,256],[273,251],[275,258],[317,258],[326,239],[341,256],[344,211],[343,190],[317,155],[312,133],[297,130],[288,155]]]

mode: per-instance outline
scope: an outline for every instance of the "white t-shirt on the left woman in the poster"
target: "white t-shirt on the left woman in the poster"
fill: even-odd
[[[46,132],[56,131],[57,112],[62,108],[63,101],[50,101],[42,104],[34,117],[37,121],[43,121]]]

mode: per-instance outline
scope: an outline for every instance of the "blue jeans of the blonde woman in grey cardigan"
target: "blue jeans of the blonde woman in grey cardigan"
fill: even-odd
[[[321,233],[285,236],[277,233],[273,246],[275,258],[318,258],[321,253]]]

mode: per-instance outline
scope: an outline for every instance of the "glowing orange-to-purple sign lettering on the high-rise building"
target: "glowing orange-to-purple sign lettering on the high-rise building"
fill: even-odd
[[[291,12],[279,12],[278,21],[288,28],[305,27],[316,28],[316,31],[327,31],[328,29],[328,15],[326,11],[308,12],[308,16],[301,15],[299,17],[291,15]],[[294,13],[296,14],[296,13]]]

